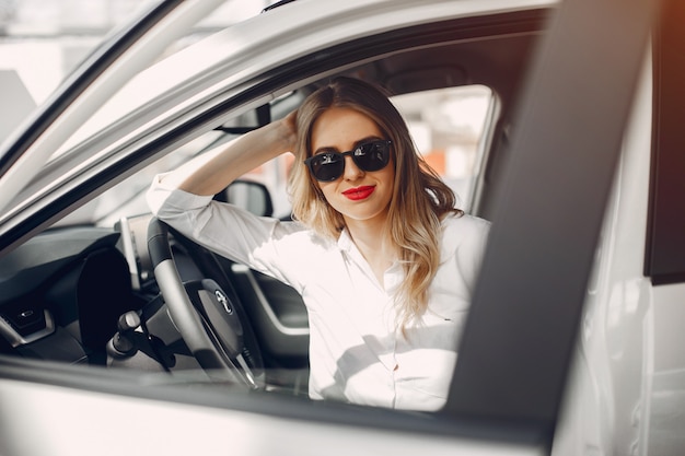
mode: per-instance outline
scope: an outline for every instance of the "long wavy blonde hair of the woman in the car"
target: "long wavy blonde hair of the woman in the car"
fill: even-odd
[[[456,198],[418,154],[402,115],[381,89],[351,78],[338,78],[312,93],[298,109],[295,163],[289,178],[293,219],[322,236],[337,239],[342,215],[324,198],[303,161],[311,155],[312,128],[327,109],[346,107],[371,118],[392,141],[395,185],[388,208],[391,241],[399,249],[406,280],[395,303],[404,329],[428,306],[428,289],[440,266],[441,221],[455,209]]]

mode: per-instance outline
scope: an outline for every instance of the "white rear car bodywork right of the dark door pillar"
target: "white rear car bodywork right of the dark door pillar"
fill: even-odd
[[[654,287],[643,271],[651,72],[648,59],[606,210],[553,454],[677,456],[685,445],[685,285]]]

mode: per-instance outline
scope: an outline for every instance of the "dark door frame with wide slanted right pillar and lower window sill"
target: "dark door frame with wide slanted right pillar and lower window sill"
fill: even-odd
[[[233,412],[241,417],[248,412],[249,420],[263,431],[279,425],[290,429],[293,423],[293,431],[299,431],[323,423],[334,424],[328,431],[345,429],[340,435],[348,431],[348,435],[353,435],[363,433],[360,426],[369,426],[376,429],[378,435],[391,435],[396,443],[406,443],[398,432],[411,430],[410,436],[417,441],[428,446],[431,441],[434,444],[426,448],[426,454],[438,451],[440,445],[443,445],[440,449],[450,447],[444,446],[445,442],[454,447],[465,445],[466,449],[474,449],[473,445],[483,449],[485,445],[502,454],[511,454],[511,445],[522,445],[518,447],[523,448],[523,454],[549,451],[653,8],[653,2],[641,0],[601,3],[597,7],[593,0],[564,2],[533,67],[519,109],[522,121],[513,136],[506,185],[497,197],[494,230],[462,340],[460,362],[448,406],[441,413],[418,418],[386,410],[344,405],[317,407],[297,401],[282,401],[283,407],[275,412],[274,405],[281,399],[228,395],[217,401],[217,391],[178,395],[177,389],[164,386],[136,390],[140,384],[128,376],[118,378],[118,384],[96,373],[73,378],[73,367],[68,366],[54,366],[46,379],[45,372],[39,371],[43,364],[7,359],[0,360],[3,397],[8,398],[9,391],[49,384],[67,387],[67,391],[58,393],[68,398],[78,393],[73,388],[96,393],[83,398],[93,404],[114,394],[121,396],[131,409],[151,406],[147,401],[130,402],[136,397],[161,400],[152,405],[161,408],[185,402],[198,407],[193,410],[206,413],[202,417],[209,420],[222,421],[216,408],[228,409],[221,414],[224,418]],[[583,27],[581,24],[590,20],[588,14],[594,22]],[[615,58],[607,59],[607,55],[585,46],[607,35],[611,39],[606,49],[615,51],[612,54]],[[593,68],[602,75],[601,84],[611,84],[615,91],[601,100],[578,96],[593,81],[584,78],[588,74],[568,71],[569,60],[576,69]],[[608,79],[616,74],[619,81]],[[569,122],[567,116],[576,119],[578,113],[587,118]],[[611,119],[608,128],[588,135],[591,125],[607,119]],[[580,143],[571,144],[571,140]],[[572,150],[571,145],[574,145]],[[581,155],[573,155],[579,149]],[[533,169],[542,164],[553,171],[534,174]],[[589,185],[579,191],[576,183],[581,180]],[[565,195],[573,195],[568,203],[582,209],[582,218],[568,219]],[[549,224],[549,219],[556,222]],[[566,242],[569,236],[576,238],[572,246]],[[542,341],[544,350],[539,350]],[[36,395],[42,397],[37,391]],[[11,406],[16,413],[21,412],[20,402],[11,401]],[[267,417],[276,420],[269,421]],[[233,420],[230,422],[235,424]],[[154,423],[147,424],[154,429]],[[322,435],[330,435],[328,431]],[[449,436],[446,441],[445,436]],[[368,442],[378,443],[376,436],[367,437]],[[209,440],[219,444],[216,439]],[[311,442],[324,444],[315,435],[310,437]],[[395,454],[409,454],[407,448],[398,449]],[[341,454],[336,451],[339,448],[334,448],[332,454]]]

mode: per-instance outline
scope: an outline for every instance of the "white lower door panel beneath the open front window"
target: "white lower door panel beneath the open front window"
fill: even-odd
[[[0,381],[0,454],[12,456],[92,456],[91,448],[101,448],[98,456],[544,454],[541,446],[286,420],[56,386],[36,388],[5,379]],[[74,445],[72,434],[55,426],[67,418],[92,445]],[[24,437],[9,439],[22,434]]]

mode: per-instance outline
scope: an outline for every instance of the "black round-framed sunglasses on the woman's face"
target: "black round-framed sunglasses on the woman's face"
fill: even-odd
[[[380,171],[390,162],[390,140],[369,141],[348,152],[323,152],[304,161],[316,180],[333,182],[345,172],[345,156],[349,155],[361,171]]]

